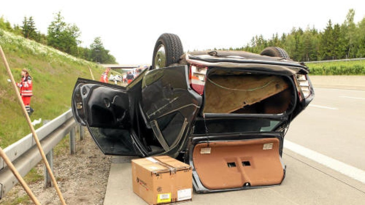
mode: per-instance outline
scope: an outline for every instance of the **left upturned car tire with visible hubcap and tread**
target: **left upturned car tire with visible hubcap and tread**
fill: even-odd
[[[183,45],[179,36],[175,34],[162,34],[156,42],[153,50],[152,69],[167,67],[178,63],[183,55]]]

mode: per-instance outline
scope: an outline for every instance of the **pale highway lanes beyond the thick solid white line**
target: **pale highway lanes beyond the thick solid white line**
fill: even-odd
[[[365,170],[365,91],[315,89],[285,139]]]

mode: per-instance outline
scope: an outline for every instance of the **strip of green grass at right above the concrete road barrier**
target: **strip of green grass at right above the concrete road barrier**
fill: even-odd
[[[311,75],[365,75],[365,61],[307,63]]]

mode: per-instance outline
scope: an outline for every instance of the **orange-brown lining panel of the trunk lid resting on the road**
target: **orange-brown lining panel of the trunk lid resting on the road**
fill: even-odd
[[[272,148],[268,148],[270,143]],[[210,148],[210,153],[206,149],[204,152],[204,148]],[[237,188],[245,183],[276,185],[284,177],[277,138],[211,142],[209,147],[207,143],[197,144],[193,163],[201,183],[208,189]]]

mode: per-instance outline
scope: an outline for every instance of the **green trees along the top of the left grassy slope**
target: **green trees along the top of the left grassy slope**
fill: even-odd
[[[89,48],[79,46],[81,44],[79,40],[81,36],[80,29],[75,24],[66,23],[61,12],[55,13],[53,21],[47,28],[47,35],[37,31],[32,16],[29,18],[24,16],[22,26],[14,25],[14,27],[8,21],[5,21],[3,17],[0,17],[0,28],[87,61],[117,63],[115,57],[103,46],[100,37],[96,37]]]

